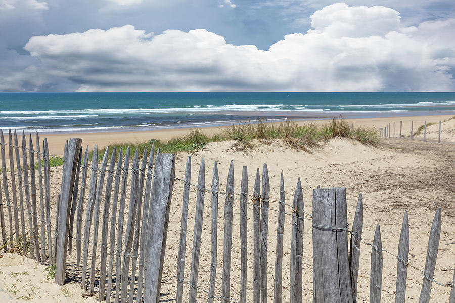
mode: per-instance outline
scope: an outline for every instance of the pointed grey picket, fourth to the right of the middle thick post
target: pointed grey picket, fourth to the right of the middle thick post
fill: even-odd
[[[226,182],[226,200],[224,202],[224,241],[223,273],[221,295],[223,302],[229,302],[231,288],[231,253],[232,253],[232,215],[234,207],[234,162],[231,161]]]

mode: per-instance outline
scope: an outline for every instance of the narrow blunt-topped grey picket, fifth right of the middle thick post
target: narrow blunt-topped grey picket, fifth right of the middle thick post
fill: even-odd
[[[240,302],[246,302],[248,262],[248,168],[242,168],[240,185]]]

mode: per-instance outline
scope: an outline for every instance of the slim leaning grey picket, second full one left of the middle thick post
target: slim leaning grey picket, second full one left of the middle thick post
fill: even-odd
[[[142,165],[141,173],[139,175],[139,196],[138,202],[136,202],[136,220],[135,220],[135,229],[134,229],[134,240],[133,240],[133,255],[132,255],[132,272],[131,272],[131,283],[129,284],[129,302],[134,302],[134,281],[136,280],[136,266],[138,264],[138,252],[139,252],[139,236],[140,236],[140,225],[141,225],[141,210],[142,210],[142,198],[144,194],[144,179],[145,171],[147,165],[147,147],[144,147],[144,152],[142,153]],[[139,293],[138,293],[139,296]],[[142,296],[142,294],[141,294]]]

